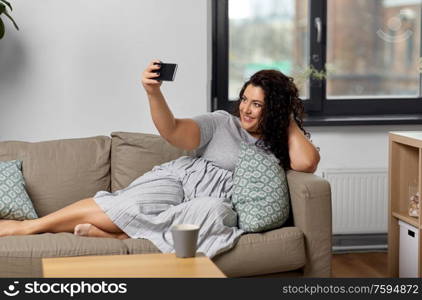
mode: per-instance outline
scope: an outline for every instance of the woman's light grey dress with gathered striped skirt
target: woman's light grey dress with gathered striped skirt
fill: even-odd
[[[197,251],[212,258],[232,248],[243,233],[231,203],[232,176],[240,142],[256,139],[223,111],[194,120],[201,130],[197,157],[155,166],[128,187],[100,191],[94,200],[129,237],[148,239],[163,253],[174,252],[171,226],[199,225]]]

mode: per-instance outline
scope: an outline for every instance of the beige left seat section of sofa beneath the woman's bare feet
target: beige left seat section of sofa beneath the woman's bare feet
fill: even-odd
[[[43,257],[127,254],[118,239],[88,238],[72,233],[45,233],[0,238],[0,277],[41,277]]]

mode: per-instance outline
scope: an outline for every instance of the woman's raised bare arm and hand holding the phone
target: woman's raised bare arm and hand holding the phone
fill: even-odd
[[[142,76],[142,84],[148,95],[151,117],[160,135],[170,144],[185,150],[193,150],[199,146],[201,133],[199,126],[192,119],[176,119],[173,116],[164,95],[161,93],[161,82],[154,78],[154,71],[159,65],[152,61]]]

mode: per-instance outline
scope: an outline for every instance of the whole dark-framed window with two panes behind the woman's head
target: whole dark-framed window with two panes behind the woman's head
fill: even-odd
[[[213,109],[260,69],[295,78],[310,125],[422,123],[422,0],[214,0]]]

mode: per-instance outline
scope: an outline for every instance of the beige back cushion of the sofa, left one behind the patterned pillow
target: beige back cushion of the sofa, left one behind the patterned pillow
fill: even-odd
[[[106,136],[47,142],[0,142],[1,160],[22,160],[26,190],[39,216],[110,190]]]

